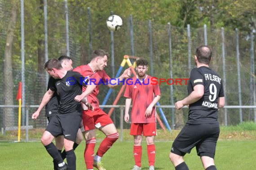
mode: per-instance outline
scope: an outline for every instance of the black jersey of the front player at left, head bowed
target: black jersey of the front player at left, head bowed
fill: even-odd
[[[75,96],[82,93],[84,77],[79,72],[67,71],[66,75],[59,79],[50,89],[57,91],[60,96],[58,114],[82,115],[80,102],[75,101]]]

